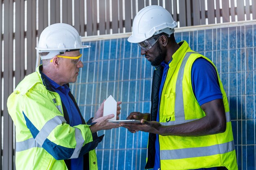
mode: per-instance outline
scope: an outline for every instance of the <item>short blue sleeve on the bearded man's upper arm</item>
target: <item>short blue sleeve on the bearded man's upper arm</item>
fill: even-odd
[[[222,99],[215,67],[204,58],[198,58],[193,63],[191,81],[200,106],[215,99]]]

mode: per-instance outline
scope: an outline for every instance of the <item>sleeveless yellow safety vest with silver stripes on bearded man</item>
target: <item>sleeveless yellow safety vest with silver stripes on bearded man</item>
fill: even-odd
[[[173,60],[169,64],[170,68],[167,72],[159,106],[159,122],[164,126],[182,124],[205,116],[193,93],[191,68],[193,62],[199,57],[203,57],[209,62],[211,60],[192,51],[186,41],[180,44],[182,45],[174,53]],[[211,64],[214,66],[213,62]],[[158,77],[158,79],[161,78]],[[153,79],[153,81],[155,80]],[[189,170],[220,166],[225,166],[229,170],[238,169],[229,104],[219,75],[218,82],[226,112],[226,131],[199,137],[159,135],[161,170]],[[155,82],[155,84],[157,83]],[[155,84],[153,84],[153,87]],[[159,86],[159,83],[157,86]],[[153,91],[153,93],[156,92]],[[156,104],[153,104],[153,107],[156,107]],[[155,117],[155,113],[153,113],[153,119]],[[150,163],[154,160],[154,153],[152,153],[154,152],[152,150],[154,137],[152,136],[149,136],[148,152],[151,153],[148,154],[146,168],[153,168],[153,164]]]

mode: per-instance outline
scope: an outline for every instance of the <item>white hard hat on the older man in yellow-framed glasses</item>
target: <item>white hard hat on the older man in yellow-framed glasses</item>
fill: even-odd
[[[41,56],[41,59],[50,59],[60,52],[89,48],[83,46],[81,36],[76,29],[64,23],[57,23],[47,26],[41,33],[38,46],[39,52],[49,52],[48,55]]]

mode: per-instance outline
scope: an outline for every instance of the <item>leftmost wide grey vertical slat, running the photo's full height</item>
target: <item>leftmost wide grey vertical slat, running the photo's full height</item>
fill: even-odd
[[[4,0],[4,106],[3,106],[3,169],[13,169],[13,123],[7,110],[7,98],[13,85],[13,1]]]

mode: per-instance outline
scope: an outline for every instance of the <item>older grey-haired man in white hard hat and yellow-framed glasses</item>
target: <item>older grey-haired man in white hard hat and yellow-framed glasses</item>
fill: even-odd
[[[103,117],[101,104],[87,123],[69,83],[83,67],[81,36],[73,26],[52,24],[40,35],[42,65],[27,75],[9,96],[7,107],[16,126],[17,170],[97,170],[97,131],[118,128]],[[117,119],[121,102],[117,102]]]

